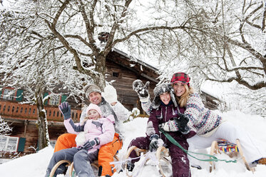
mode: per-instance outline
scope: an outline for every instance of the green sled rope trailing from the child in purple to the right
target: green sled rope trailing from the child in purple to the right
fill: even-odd
[[[217,157],[215,157],[215,156],[213,156],[213,155],[210,155],[210,154],[206,154],[206,153],[195,153],[195,152],[192,152],[192,151],[185,150],[185,148],[183,148],[183,147],[180,145],[180,143],[178,143],[178,141],[175,141],[175,139],[174,139],[172,136],[170,136],[169,133],[167,133],[167,132],[165,132],[165,131],[163,131],[163,130],[160,130],[160,131],[163,132],[163,134],[165,135],[165,137],[168,138],[168,140],[169,140],[171,143],[173,143],[175,146],[178,146],[178,147],[181,148],[185,153],[187,153],[188,156],[191,156],[191,157],[197,159],[198,161],[224,161],[224,162],[226,162],[226,163],[231,163],[231,162],[232,162],[232,163],[236,163],[236,162],[237,162],[237,160],[233,160],[233,161],[232,161],[232,160],[229,160],[229,161],[227,161],[227,160],[219,159],[219,158],[217,158]],[[192,156],[190,153],[195,153],[195,154],[198,154],[198,155],[208,156],[210,159],[200,159],[200,158],[196,158],[195,156]]]

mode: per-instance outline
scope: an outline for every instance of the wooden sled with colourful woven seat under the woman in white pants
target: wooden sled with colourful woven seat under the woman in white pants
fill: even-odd
[[[225,141],[225,140],[222,140],[222,141]],[[221,147],[220,141],[213,141],[212,146],[210,147],[210,155],[214,155],[215,153],[221,153],[221,151],[226,152],[227,155],[230,156],[231,158],[233,156],[237,156],[238,154],[240,154],[242,161],[244,162],[247,170],[252,171],[252,173],[255,172],[255,168],[250,167],[245,159],[239,139],[236,140],[236,144],[229,143],[229,146],[227,146],[226,148]],[[213,169],[215,170],[215,161],[210,161],[210,172],[212,172]]]

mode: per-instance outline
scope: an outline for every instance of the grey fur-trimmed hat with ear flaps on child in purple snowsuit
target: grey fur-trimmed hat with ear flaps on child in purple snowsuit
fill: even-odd
[[[160,106],[160,94],[163,94],[165,92],[170,93],[173,103],[175,104],[175,106],[178,106],[175,100],[175,94],[173,91],[173,87],[170,84],[163,83],[158,86],[155,86],[155,88],[153,89],[154,98],[151,104],[152,108],[158,108]]]

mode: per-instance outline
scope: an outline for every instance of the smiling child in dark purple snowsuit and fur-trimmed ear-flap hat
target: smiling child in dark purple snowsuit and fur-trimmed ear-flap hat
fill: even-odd
[[[148,119],[146,129],[147,136],[133,139],[129,147],[137,146],[138,148],[150,149],[150,151],[153,151],[153,149],[158,148],[160,144],[162,145],[164,143],[164,146],[169,148],[170,151],[173,166],[173,177],[190,176],[190,166],[187,154],[178,148],[178,146],[170,143],[170,141],[168,141],[164,134],[160,133],[159,130],[161,123],[173,120],[174,118],[178,119],[179,110],[181,113],[184,113],[185,109],[177,107],[173,88],[169,84],[160,84],[155,87],[153,92],[155,98],[153,99],[152,109]],[[183,148],[188,150],[187,138],[195,135],[195,131],[189,132],[189,130],[184,127],[186,126],[186,123],[180,122],[187,123],[188,121],[178,120],[178,127],[185,130],[185,132],[183,132],[185,134],[178,131],[170,132],[170,135],[175,138],[175,140],[178,141]],[[183,124],[183,126],[180,126],[180,124]],[[137,157],[135,151],[132,151],[130,157]],[[126,162],[128,171],[133,171],[135,161],[138,161],[138,159]]]

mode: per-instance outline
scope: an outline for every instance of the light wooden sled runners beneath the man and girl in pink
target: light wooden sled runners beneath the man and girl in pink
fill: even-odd
[[[116,159],[116,161],[118,161],[118,157],[117,156],[114,156],[113,158]],[[69,176],[70,177],[75,177],[76,173],[74,171],[74,166],[73,166],[74,163],[73,162],[71,163],[70,161],[67,161],[67,160],[58,161],[58,163],[56,163],[56,165],[53,166],[53,168],[51,170],[51,173],[50,173],[50,176],[53,176],[53,174],[56,172],[56,169],[58,168],[58,166],[60,166],[63,163],[66,163],[66,167],[70,166],[70,168],[69,168]],[[94,161],[93,163],[91,163],[91,168],[93,168],[94,176],[98,176],[98,170],[99,170],[98,161]]]

